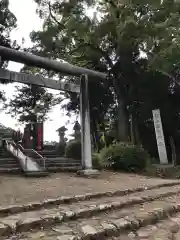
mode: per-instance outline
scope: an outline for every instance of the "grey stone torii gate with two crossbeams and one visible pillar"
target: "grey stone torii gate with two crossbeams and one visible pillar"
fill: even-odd
[[[71,91],[80,93],[80,113],[81,113],[81,143],[82,143],[82,166],[83,175],[96,174],[92,169],[91,153],[91,133],[89,116],[88,78],[99,78],[105,80],[107,75],[87,68],[77,67],[69,63],[61,63],[55,60],[35,56],[26,52],[20,52],[10,48],[0,46],[0,58],[18,63],[23,63],[32,67],[39,67],[52,70],[62,75],[76,76],[80,78],[80,86],[67,84],[61,81],[44,78],[39,75],[17,73],[0,68],[0,80],[20,82],[24,84],[34,84],[41,87]]]

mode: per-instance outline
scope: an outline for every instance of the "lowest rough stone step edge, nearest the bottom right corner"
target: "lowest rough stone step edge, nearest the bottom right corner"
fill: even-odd
[[[127,218],[119,218],[115,220],[108,220],[107,222],[100,222],[101,229],[95,229],[90,225],[86,225],[83,228],[83,232],[79,233],[81,236],[69,236],[69,239],[73,240],[87,240],[87,239],[108,239],[112,237],[120,237],[123,233],[128,234],[129,232],[135,232],[141,227],[146,227],[148,225],[154,225],[157,222],[167,219],[170,216],[173,216],[180,212],[180,204],[179,205],[171,205],[166,208],[162,208],[159,210],[154,210],[151,212],[147,212],[147,215],[143,218],[139,218],[138,215],[132,217],[131,220]],[[61,235],[61,239],[67,239],[67,235]],[[70,238],[71,237],[71,238]],[[119,238],[118,238],[119,239]],[[124,238],[122,238],[124,239]],[[127,237],[126,239],[130,239]],[[134,238],[133,238],[134,239]],[[135,238],[136,239],[136,238]],[[140,239],[140,238],[138,238]],[[147,239],[146,237],[143,238]],[[158,238],[160,240],[160,238]],[[170,238],[168,238],[170,239]],[[174,238],[173,238],[174,239]]]

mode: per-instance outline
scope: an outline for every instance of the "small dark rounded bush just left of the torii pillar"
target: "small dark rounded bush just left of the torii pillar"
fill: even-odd
[[[81,159],[81,141],[72,140],[66,146],[66,157]]]

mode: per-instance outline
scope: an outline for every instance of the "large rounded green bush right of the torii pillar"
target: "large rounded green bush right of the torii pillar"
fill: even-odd
[[[148,153],[130,143],[117,143],[100,152],[104,165],[114,170],[141,171],[146,168]]]

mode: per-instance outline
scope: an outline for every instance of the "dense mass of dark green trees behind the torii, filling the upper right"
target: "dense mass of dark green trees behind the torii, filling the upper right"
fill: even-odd
[[[152,109],[160,108],[166,139],[180,137],[177,1],[34,1],[44,24],[42,30],[31,33],[33,47],[26,51],[109,76],[105,81],[89,81],[92,133],[114,126],[118,140],[139,141],[153,148]],[[43,74],[52,77],[56,73]],[[77,78],[58,77],[78,82]],[[70,101],[64,107],[78,112],[79,96],[66,96]]]

